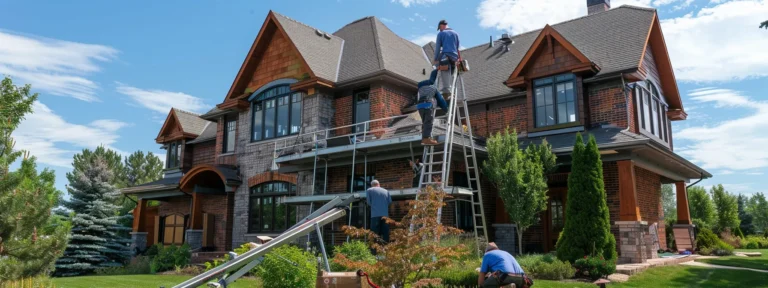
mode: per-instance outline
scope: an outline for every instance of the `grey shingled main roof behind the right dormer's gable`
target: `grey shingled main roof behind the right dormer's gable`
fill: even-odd
[[[637,69],[655,10],[629,5],[552,25],[558,33],[601,67],[595,77]],[[469,100],[509,94],[504,85],[541,29],[512,37],[508,45],[494,41],[461,51],[471,70],[464,73]],[[425,47],[425,50],[428,47]]]

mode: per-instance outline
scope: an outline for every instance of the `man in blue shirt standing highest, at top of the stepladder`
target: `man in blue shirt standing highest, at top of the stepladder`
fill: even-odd
[[[459,52],[459,34],[453,29],[448,28],[448,21],[440,20],[437,24],[437,40],[435,40],[435,57],[432,60],[433,65],[438,66],[438,70],[442,70],[440,73],[441,92],[445,99],[451,98],[452,82],[451,75],[453,70],[456,69],[456,62],[461,59],[461,53]],[[443,70],[440,67],[447,68]],[[447,72],[447,73],[446,73]]]

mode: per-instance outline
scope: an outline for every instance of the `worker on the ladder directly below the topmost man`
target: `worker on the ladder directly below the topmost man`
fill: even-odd
[[[436,78],[437,70],[434,70],[430,74],[429,80],[421,81],[418,84],[419,96],[416,109],[419,109],[419,115],[421,116],[421,145],[425,146],[437,145],[437,141],[432,139],[435,104],[444,111],[448,110],[448,104],[445,103],[445,99],[443,99],[443,96],[435,87]]]

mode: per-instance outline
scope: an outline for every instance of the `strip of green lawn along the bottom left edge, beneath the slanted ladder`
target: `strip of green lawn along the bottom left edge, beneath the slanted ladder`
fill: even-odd
[[[190,276],[177,275],[120,275],[120,276],[82,276],[53,278],[53,284],[61,288],[96,288],[96,287],[154,287],[164,286],[171,288],[191,278]],[[204,286],[201,286],[204,287]],[[244,278],[227,287],[261,287],[261,281],[253,278]]]

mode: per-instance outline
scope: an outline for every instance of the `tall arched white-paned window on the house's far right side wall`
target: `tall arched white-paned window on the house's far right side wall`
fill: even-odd
[[[669,143],[669,119],[667,119],[669,107],[656,86],[650,81],[646,83],[647,86],[635,85],[638,126],[642,131],[647,132],[647,136],[655,136]]]

